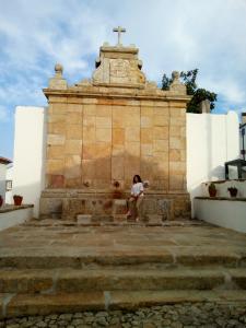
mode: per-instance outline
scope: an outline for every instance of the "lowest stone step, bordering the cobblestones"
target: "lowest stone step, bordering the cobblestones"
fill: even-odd
[[[57,295],[0,294],[0,319],[79,313],[83,311],[128,309],[180,304],[184,302],[213,302],[216,304],[239,302],[246,305],[246,291],[106,291]]]

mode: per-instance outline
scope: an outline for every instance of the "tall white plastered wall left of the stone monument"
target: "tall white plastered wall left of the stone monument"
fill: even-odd
[[[34,204],[38,218],[40,192],[45,187],[46,108],[17,106],[14,130],[13,195]]]

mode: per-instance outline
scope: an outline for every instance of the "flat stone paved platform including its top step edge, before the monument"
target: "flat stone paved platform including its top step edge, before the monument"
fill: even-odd
[[[246,234],[187,221],[169,226],[79,226],[31,221],[0,232],[0,267],[83,263],[246,265]],[[36,260],[38,258],[38,261]]]

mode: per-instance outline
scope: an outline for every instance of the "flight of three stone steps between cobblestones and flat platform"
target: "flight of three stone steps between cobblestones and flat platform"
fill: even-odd
[[[244,256],[98,253],[0,258],[1,317],[206,301],[246,303]]]

